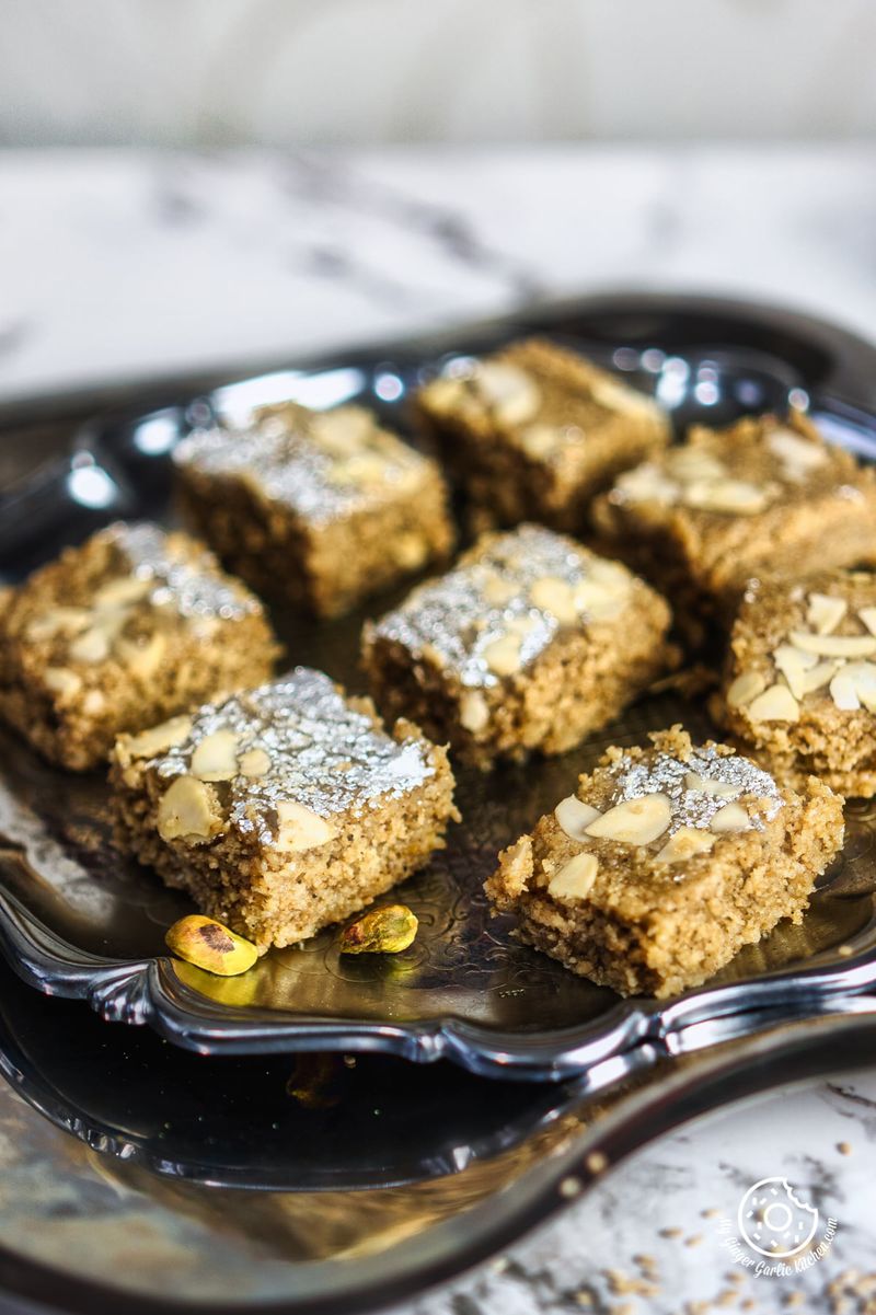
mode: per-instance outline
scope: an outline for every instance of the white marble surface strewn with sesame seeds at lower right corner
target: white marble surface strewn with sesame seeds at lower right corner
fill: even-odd
[[[404,1315],[714,1315],[722,1308],[779,1315],[789,1307],[869,1315],[876,1308],[875,1159],[876,1068],[779,1089],[663,1137],[493,1265]],[[827,1255],[804,1274],[758,1274],[725,1245],[721,1219],[735,1222],[748,1187],[775,1176],[819,1210],[818,1236],[826,1216],[838,1222]],[[855,1285],[868,1289],[875,1304],[855,1295]],[[843,1294],[848,1304],[839,1301]]]

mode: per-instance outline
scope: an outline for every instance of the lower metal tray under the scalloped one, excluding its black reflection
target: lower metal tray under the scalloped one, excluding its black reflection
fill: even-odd
[[[82,1006],[61,1010],[75,1035],[74,1014]],[[25,1023],[22,1015],[20,1020]],[[254,1197],[157,1177],[142,1159],[92,1153],[92,1145],[113,1151],[104,1140],[107,1128],[93,1126],[93,1111],[85,1111],[83,1144],[58,1134],[0,1084],[0,1136],[16,1147],[0,1199],[0,1291],[71,1315],[353,1315],[385,1308],[510,1245],[598,1187],[614,1165],[655,1137],[776,1084],[788,1091],[867,1064],[876,1002],[847,998],[840,1010],[822,1002],[809,1018],[764,1016],[762,1023],[759,1035],[737,1039],[731,1019],[708,1024],[708,1035],[694,1038],[694,1028],[687,1038],[691,1053],[658,1060],[598,1103],[573,1086],[529,1084],[531,1097],[556,1098],[556,1116],[518,1145],[439,1181],[355,1193]],[[122,1038],[107,1044],[113,1040],[126,1049]],[[441,1082],[447,1066],[409,1068]],[[58,1076],[57,1064],[29,1074],[30,1095],[41,1091],[43,1106],[66,1109],[75,1123],[80,1102],[66,1082],[55,1085]],[[172,1072],[167,1081],[172,1095]],[[495,1097],[505,1086],[491,1082],[489,1089]],[[117,1119],[124,1110],[120,1094]],[[129,1112],[120,1130],[130,1136]]]

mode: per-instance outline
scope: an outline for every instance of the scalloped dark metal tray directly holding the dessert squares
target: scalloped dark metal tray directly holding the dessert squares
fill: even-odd
[[[781,409],[793,397],[797,405],[809,402],[833,439],[876,459],[876,351],[858,339],[817,321],[727,302],[600,299],[445,338],[339,354],[205,392],[168,384],[164,405],[149,412],[133,398],[122,414],[97,414],[93,398],[91,405],[79,398],[85,421],[71,431],[43,414],[26,443],[13,439],[20,427],[7,429],[3,459],[16,477],[0,502],[0,564],[13,579],[97,523],[170,514],[170,448],[210,414],[239,418],[283,396],[310,405],[355,397],[404,430],[412,384],[449,352],[483,350],[533,330],[577,343],[658,392],[680,425]],[[392,602],[392,596],[379,598],[368,610],[379,614]],[[295,661],[356,689],[363,615],[324,625],[281,614],[275,621]],[[163,930],[189,906],[113,848],[103,780],[55,772],[7,736],[0,743],[0,948],[42,990],[84,997],[107,1019],[151,1023],[204,1053],[384,1051],[450,1059],[493,1076],[584,1074],[591,1090],[617,1080],[637,1051],[671,1052],[694,1024],[739,1015],[747,1020],[739,1026],[756,1028],[759,1011],[806,1015],[876,982],[872,805],[850,805],[844,853],[801,927],[780,926],[706,988],[668,1003],[620,1001],[517,945],[510,923],[489,918],[481,882],[496,852],[567,794],[605,744],[641,742],[647,730],[673,721],[696,734],[709,731],[700,706],[664,693],[563,757],[491,776],[459,772],[462,826],[447,851],[397,892],[421,920],[404,955],[347,961],[326,931],[231,980],[163,955]]]

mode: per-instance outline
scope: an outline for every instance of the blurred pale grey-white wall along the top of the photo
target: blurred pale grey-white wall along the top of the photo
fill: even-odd
[[[0,0],[0,141],[871,137],[873,0]]]

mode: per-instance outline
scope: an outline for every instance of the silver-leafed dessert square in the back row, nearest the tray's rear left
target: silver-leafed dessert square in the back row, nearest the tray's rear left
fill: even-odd
[[[287,405],[175,450],[182,502],[254,589],[335,617],[454,542],[438,466],[359,406]]]

